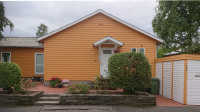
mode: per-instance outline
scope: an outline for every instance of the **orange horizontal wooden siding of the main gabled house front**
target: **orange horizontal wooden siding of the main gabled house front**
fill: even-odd
[[[156,41],[103,14],[94,15],[68,29],[44,39],[44,76],[86,81],[100,74],[98,47],[93,43],[106,36],[124,43],[120,52],[145,48],[155,75]]]

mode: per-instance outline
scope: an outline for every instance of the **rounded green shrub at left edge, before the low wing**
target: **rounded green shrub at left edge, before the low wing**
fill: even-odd
[[[13,93],[13,89],[16,91],[20,89],[20,83],[20,67],[15,63],[0,62],[0,88]]]

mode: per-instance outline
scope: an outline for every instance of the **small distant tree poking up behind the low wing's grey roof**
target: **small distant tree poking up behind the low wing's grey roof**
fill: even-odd
[[[48,27],[41,23],[40,26],[38,26],[38,30],[36,32],[37,37],[42,37],[48,33]]]

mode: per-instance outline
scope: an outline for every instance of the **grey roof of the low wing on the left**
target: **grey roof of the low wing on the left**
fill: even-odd
[[[0,47],[31,47],[43,48],[36,37],[5,37],[0,40]]]

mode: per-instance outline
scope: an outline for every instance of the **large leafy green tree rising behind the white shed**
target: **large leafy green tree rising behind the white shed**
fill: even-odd
[[[163,48],[193,53],[200,48],[200,1],[159,1],[152,26]]]

